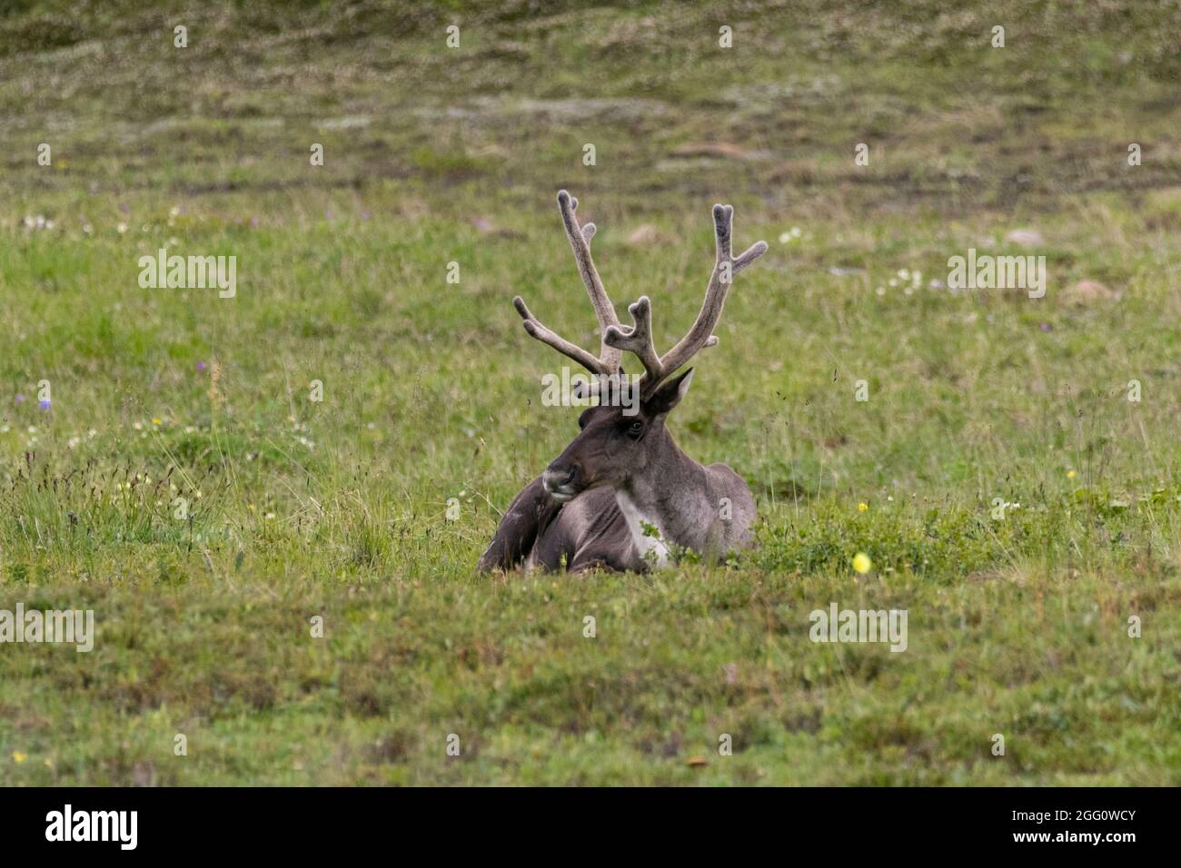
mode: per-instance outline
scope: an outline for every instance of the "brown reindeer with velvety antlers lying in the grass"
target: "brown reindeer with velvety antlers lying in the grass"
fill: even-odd
[[[602,345],[599,357],[559,337],[529,313],[521,296],[513,305],[524,329],[598,374],[599,405],[579,417],[581,433],[546,471],[516,496],[501,520],[479,569],[529,567],[583,570],[646,570],[668,561],[677,548],[716,561],[750,542],[755,498],[746,483],[725,464],[703,466],[685,455],[665,419],[689,391],[693,370],[672,377],[698,351],[713,346],[713,328],[733,276],[766,252],[759,241],[740,256],[731,255],[733,208],[713,205],[717,254],[705,301],[689,333],[664,355],[652,345],[652,311],[646,295],[627,309],[631,328],[621,327],[590,259],[594,223],[579,226],[578,200],[557,194],[566,235],[579,274],[590,294]],[[613,400],[611,390],[628,389],[620,374],[622,351],[644,366],[639,407]]]

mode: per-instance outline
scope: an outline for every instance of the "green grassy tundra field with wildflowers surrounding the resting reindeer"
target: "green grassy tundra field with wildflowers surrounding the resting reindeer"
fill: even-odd
[[[6,5],[0,609],[97,639],[0,645],[0,784],[1181,782],[1181,7],[948,6]],[[576,431],[511,296],[598,342],[562,187],[658,346],[713,202],[771,244],[670,418],[725,568],[474,572]]]

